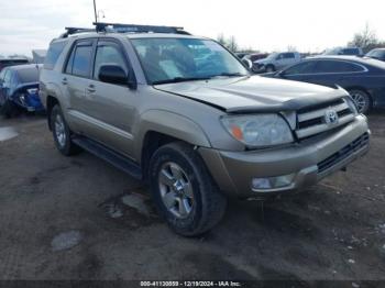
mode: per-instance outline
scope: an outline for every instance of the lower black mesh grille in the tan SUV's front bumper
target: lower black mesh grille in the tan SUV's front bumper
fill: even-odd
[[[358,152],[362,147],[365,147],[369,144],[369,134],[362,134],[360,137],[354,140],[352,143],[349,145],[344,146],[342,149],[339,152],[336,152],[333,155],[329,156],[324,160],[321,160],[320,163],[317,164],[318,166],[318,173],[322,173],[341,160],[348,158],[350,155],[352,155],[354,152]]]

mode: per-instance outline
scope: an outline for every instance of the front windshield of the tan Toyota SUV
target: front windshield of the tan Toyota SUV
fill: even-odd
[[[134,38],[132,43],[153,85],[249,75],[233,55],[210,40]]]

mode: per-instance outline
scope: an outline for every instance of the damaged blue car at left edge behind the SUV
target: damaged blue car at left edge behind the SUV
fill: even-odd
[[[0,112],[6,118],[21,111],[42,112],[38,97],[38,74],[35,64],[6,67],[0,73]]]

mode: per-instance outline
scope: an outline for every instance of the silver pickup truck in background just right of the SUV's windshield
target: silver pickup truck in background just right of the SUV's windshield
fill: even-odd
[[[264,59],[255,60],[253,63],[253,70],[255,73],[272,73],[296,64],[300,62],[300,59],[301,57],[298,52],[273,53]]]

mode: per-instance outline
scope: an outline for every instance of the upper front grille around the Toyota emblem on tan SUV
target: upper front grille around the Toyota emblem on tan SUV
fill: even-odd
[[[327,123],[327,113],[333,111],[338,115],[334,123]],[[297,111],[296,135],[299,140],[307,139],[328,130],[342,126],[354,120],[354,113],[346,100],[340,98],[331,102],[307,107]]]

